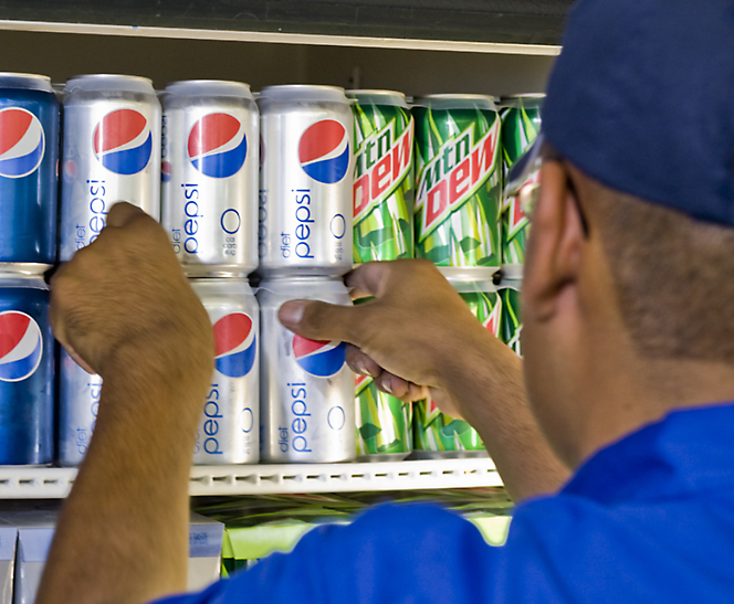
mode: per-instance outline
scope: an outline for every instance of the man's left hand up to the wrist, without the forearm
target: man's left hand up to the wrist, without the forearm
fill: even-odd
[[[207,312],[160,225],[129,203],[114,205],[93,244],[54,274],[51,325],[72,357],[103,379],[127,360],[162,372],[172,368],[159,358],[212,369]]]

